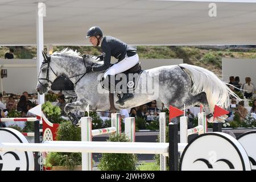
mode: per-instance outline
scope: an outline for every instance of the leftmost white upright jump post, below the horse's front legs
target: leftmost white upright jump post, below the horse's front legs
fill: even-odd
[[[90,142],[92,140],[92,118],[81,118],[81,141]],[[82,171],[92,171],[92,153],[82,153]]]

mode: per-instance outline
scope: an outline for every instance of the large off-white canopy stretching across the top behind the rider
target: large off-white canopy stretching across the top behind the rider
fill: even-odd
[[[45,45],[89,45],[94,25],[133,45],[256,44],[255,1],[197,1],[1,0],[0,45],[36,45],[38,2],[46,4]]]

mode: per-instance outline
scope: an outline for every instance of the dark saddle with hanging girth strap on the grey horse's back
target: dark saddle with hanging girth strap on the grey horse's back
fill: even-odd
[[[112,64],[113,65],[113,64]],[[112,67],[112,65],[110,65],[110,67]],[[106,71],[105,71],[106,72]],[[105,73],[104,72],[104,73]],[[126,70],[125,72],[122,72],[122,76],[125,76],[125,77],[119,77],[120,73],[118,73],[117,75],[114,76],[114,80],[115,80],[115,86],[123,81],[125,82],[127,85],[126,86],[126,90],[129,91],[129,90],[134,90],[136,87],[137,87],[137,84],[138,84],[138,80],[139,80],[139,76],[141,76],[141,73],[143,72],[143,70],[141,69],[141,63],[137,63],[136,65],[134,65],[134,67]],[[117,79],[116,79],[117,78]],[[126,80],[122,80],[123,78],[125,78]],[[108,82],[108,85],[104,85],[104,75],[102,75],[101,77],[101,85],[104,89],[106,90],[111,90],[113,88],[110,88],[112,85],[110,84],[110,79],[109,81],[105,81],[105,83]],[[122,85],[120,85],[120,88],[119,89],[125,89],[125,88],[122,88]],[[117,90],[115,87],[114,87],[114,91],[119,91]],[[119,100],[121,99],[121,96],[120,94],[117,94],[117,97],[119,98]],[[115,112],[117,111],[117,109],[115,109],[114,107],[114,94],[112,92],[109,93],[109,102],[110,102],[110,112]]]

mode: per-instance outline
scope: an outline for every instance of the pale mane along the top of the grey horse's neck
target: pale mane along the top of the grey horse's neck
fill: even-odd
[[[82,59],[81,53],[76,51],[73,51],[70,48],[64,48],[62,51],[56,51],[53,52],[51,56],[67,56],[67,57],[72,57],[72,58],[77,58],[77,59]],[[100,58],[89,55],[88,57],[85,57],[86,62],[91,62],[91,63],[97,63],[97,64],[103,64],[103,61],[100,61]]]

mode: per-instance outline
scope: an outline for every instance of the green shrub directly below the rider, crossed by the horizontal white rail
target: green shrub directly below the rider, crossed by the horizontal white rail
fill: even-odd
[[[108,142],[129,142],[125,134],[112,134]],[[101,171],[135,171],[137,169],[137,155],[135,154],[102,154],[98,168]]]

